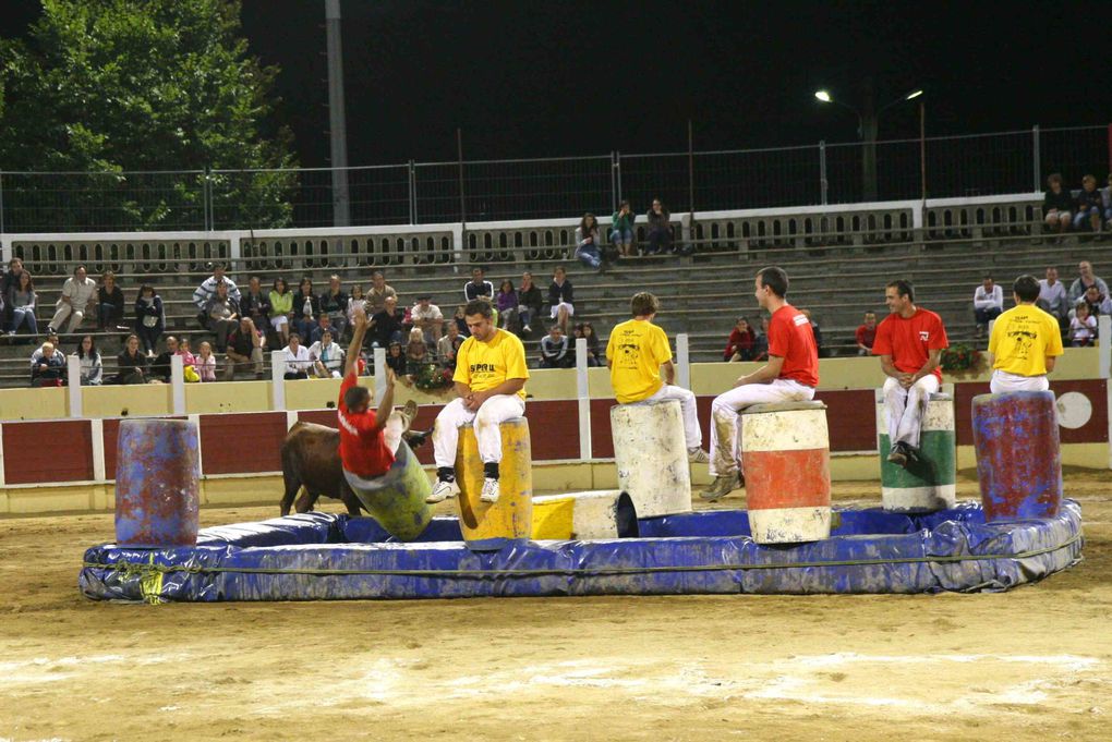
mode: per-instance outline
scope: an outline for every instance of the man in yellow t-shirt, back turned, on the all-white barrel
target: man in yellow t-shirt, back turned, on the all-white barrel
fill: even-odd
[[[629,300],[633,319],[614,328],[606,343],[610,385],[620,404],[678,400],[684,418],[687,458],[696,463],[706,463],[709,457],[703,450],[695,394],[673,385],[676,367],[672,363],[668,337],[653,324],[659,309],[661,302],[647,291],[635,293]],[[664,371],[664,379],[661,379],[661,371]]]

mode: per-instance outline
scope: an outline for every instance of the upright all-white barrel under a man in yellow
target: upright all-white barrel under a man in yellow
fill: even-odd
[[[610,408],[618,489],[627,492],[638,518],[692,509],[684,420],[677,400]]]

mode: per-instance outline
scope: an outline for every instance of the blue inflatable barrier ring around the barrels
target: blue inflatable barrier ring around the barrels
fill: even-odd
[[[369,518],[306,513],[205,529],[196,547],[89,549],[78,580],[93,600],[231,601],[1000,591],[1081,559],[1081,507],[985,523],[980,505],[916,515],[835,509],[830,539],[759,545],[744,511],[639,521],[641,537],[466,548],[455,518],[417,541]]]

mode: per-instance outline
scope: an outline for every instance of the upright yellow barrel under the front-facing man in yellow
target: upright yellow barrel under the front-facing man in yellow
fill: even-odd
[[[498,502],[479,500],[483,492],[483,459],[475,429],[460,430],[456,454],[459,481],[459,525],[467,548],[496,551],[533,534],[533,453],[529,422],[525,418],[507,420],[499,427],[502,462],[498,464]]]

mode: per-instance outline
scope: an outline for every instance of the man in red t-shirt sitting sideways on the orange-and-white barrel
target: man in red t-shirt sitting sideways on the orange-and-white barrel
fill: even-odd
[[[704,500],[718,500],[745,484],[738,465],[737,413],[751,404],[807,401],[818,385],[815,333],[807,318],[785,300],[787,273],[781,268],[762,268],[755,285],[757,302],[772,314],[768,362],[738,379],[711,405],[711,473],[715,479],[699,494]]]

